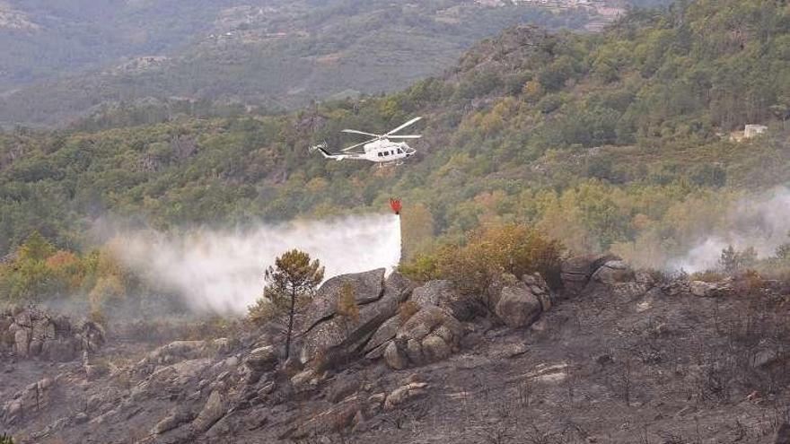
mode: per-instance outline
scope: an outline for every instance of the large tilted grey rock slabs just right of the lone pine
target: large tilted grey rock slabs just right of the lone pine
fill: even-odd
[[[378,271],[375,275],[382,276]],[[348,318],[337,313],[341,281],[332,283],[331,291],[321,287],[307,311],[324,310],[329,312],[329,315],[322,317],[303,333],[301,352],[303,362],[321,359],[324,364],[332,366],[364,353],[365,345],[382,324],[395,316],[399,304],[408,299],[414,288],[413,283],[398,273],[391,274],[380,287],[373,285],[371,274],[351,274],[341,277],[352,283],[355,289],[378,292],[378,297],[373,298],[370,294],[364,295],[355,291],[359,316]],[[381,291],[378,290],[379,288]],[[335,305],[332,306],[332,303]],[[334,309],[329,310],[328,307]]]

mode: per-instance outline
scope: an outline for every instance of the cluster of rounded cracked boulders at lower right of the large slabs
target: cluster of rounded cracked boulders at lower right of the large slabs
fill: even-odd
[[[439,361],[457,351],[462,335],[461,323],[447,310],[426,306],[399,327],[384,360],[395,370]]]

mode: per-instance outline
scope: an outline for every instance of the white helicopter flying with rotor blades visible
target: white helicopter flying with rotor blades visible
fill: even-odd
[[[401,129],[414,125],[422,118],[412,118],[405,124],[398,126],[387,134],[374,135],[371,133],[364,133],[355,129],[344,129],[343,133],[355,135],[370,135],[373,139],[365,141],[361,144],[351,145],[341,150],[344,153],[332,153],[327,150],[326,142],[310,147],[310,152],[316,150],[320,151],[327,159],[334,159],[336,161],[358,160],[358,161],[373,161],[384,165],[386,163],[394,163],[399,165],[404,159],[411,157],[416,152],[414,148],[408,146],[406,142],[392,142],[390,139],[418,139],[422,135],[394,135]],[[356,148],[363,147],[364,152],[351,152]]]

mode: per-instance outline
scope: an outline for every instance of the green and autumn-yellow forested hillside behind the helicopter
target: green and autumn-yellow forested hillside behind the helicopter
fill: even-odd
[[[681,2],[593,35],[519,26],[403,91],[282,115],[226,111],[108,109],[75,129],[0,136],[0,253],[17,252],[0,294],[22,282],[23,261],[40,273],[66,261],[96,276],[79,283],[95,294],[138,285],[87,237],[102,218],[180,230],[384,211],[393,195],[408,257],[529,222],[571,252],[661,266],[726,224],[743,196],[786,184],[790,5]],[[163,121],[141,125],[152,113]],[[347,143],[345,127],[384,131],[416,115],[425,137],[402,167],[307,150]],[[768,131],[731,140],[745,124]],[[102,276],[115,280],[95,290]]]

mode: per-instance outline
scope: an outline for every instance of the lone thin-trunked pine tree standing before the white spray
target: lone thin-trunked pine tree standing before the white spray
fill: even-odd
[[[291,338],[294,333],[296,309],[312,299],[316,288],[324,279],[324,268],[318,259],[293,249],[277,257],[274,266],[269,266],[264,274],[266,286],[263,297],[272,304],[272,309],[287,317],[285,333],[285,359],[291,355]]]

